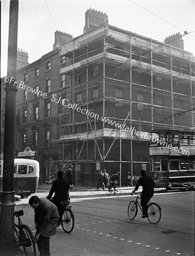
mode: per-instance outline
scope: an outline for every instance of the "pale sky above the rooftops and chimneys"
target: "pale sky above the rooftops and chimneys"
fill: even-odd
[[[1,77],[7,75],[10,0],[1,0]],[[103,11],[108,23],[159,42],[184,31],[185,51],[195,55],[195,0],[19,0],[18,48],[32,63],[53,50],[54,32],[83,34],[87,9]]]

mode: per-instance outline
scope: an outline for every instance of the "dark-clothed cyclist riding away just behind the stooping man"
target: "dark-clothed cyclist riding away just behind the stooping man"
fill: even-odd
[[[50,191],[49,191],[49,195],[46,198],[48,200],[51,199],[54,193],[53,203],[58,208],[58,212],[60,216],[59,221],[61,222],[64,208],[61,206],[60,202],[68,200],[68,192],[70,189],[70,184],[69,184],[69,181],[67,181],[66,179],[63,179],[62,171],[58,171],[57,176],[58,176],[57,180],[53,181],[52,187],[50,188]]]

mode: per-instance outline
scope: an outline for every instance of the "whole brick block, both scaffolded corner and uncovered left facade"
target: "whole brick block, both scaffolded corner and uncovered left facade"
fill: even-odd
[[[87,10],[82,35],[56,31],[53,51],[18,71],[15,157],[35,152],[43,182],[72,163],[75,185],[96,186],[104,168],[134,185],[152,130],[195,127],[194,60],[183,35],[158,42]]]

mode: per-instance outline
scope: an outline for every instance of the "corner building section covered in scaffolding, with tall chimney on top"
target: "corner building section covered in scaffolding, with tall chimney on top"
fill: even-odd
[[[95,27],[97,16],[102,24]],[[50,146],[59,146],[58,163],[72,163],[82,185],[96,185],[104,168],[120,171],[121,185],[129,171],[134,184],[141,168],[150,170],[153,129],[194,127],[194,56],[184,51],[182,35],[160,43],[107,20],[87,10],[84,34],[60,49],[61,88],[53,99],[60,138]]]

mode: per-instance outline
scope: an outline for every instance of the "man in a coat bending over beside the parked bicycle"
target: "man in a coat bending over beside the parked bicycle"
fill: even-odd
[[[29,205],[35,210],[35,243],[40,256],[50,256],[50,236],[56,234],[59,214],[56,205],[47,199],[31,196]]]

